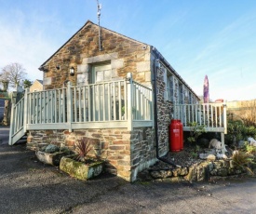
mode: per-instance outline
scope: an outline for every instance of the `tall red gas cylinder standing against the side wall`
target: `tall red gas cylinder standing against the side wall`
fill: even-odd
[[[181,151],[180,129],[178,120],[171,120],[169,125],[169,148],[171,152]]]

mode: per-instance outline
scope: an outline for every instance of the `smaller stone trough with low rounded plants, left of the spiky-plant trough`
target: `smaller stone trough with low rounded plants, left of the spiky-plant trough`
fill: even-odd
[[[35,152],[39,161],[52,166],[59,166],[61,157],[70,154],[74,153],[66,147],[59,147],[55,144],[48,144]]]

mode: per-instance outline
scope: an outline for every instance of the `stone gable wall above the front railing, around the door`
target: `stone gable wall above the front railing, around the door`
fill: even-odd
[[[99,50],[99,28],[88,21],[74,34],[43,67],[45,89],[63,87],[65,81],[74,86],[91,82],[91,66],[107,62],[111,64],[112,80],[123,79],[128,73],[133,79],[151,86],[151,47],[121,34],[101,28],[101,50]],[[74,76],[69,74],[74,67]]]

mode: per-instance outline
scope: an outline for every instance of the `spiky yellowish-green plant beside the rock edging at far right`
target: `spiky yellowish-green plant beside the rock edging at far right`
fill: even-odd
[[[253,172],[247,165],[252,161],[252,158],[250,157],[249,154],[243,153],[243,152],[238,152],[236,154],[233,154],[233,162],[236,167],[240,167],[242,169],[246,169],[251,175],[253,175]]]

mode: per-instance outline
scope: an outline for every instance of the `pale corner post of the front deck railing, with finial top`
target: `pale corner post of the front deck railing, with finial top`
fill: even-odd
[[[132,95],[133,95],[133,87],[132,87],[132,75],[131,73],[127,74],[127,85],[128,85],[128,131],[132,130]]]

